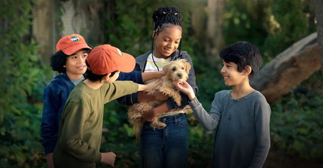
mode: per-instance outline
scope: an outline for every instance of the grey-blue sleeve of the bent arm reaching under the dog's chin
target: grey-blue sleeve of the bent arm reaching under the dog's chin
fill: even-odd
[[[204,130],[211,131],[215,129],[221,119],[221,107],[219,106],[219,100],[217,94],[214,96],[212,101],[212,108],[209,113],[203,108],[202,104],[195,98],[193,101],[189,102],[194,111],[194,115],[197,121],[202,125]]]

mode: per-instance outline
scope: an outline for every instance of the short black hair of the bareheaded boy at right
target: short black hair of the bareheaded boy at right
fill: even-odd
[[[220,58],[226,63],[235,63],[238,65],[238,72],[242,72],[246,66],[251,67],[249,80],[253,78],[262,65],[262,58],[259,49],[245,41],[233,43],[220,50]]]

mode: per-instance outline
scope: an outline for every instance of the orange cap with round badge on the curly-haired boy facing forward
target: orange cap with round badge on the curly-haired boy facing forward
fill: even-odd
[[[56,44],[56,52],[62,50],[67,55],[72,55],[82,48],[92,49],[79,34],[72,34],[62,37]]]

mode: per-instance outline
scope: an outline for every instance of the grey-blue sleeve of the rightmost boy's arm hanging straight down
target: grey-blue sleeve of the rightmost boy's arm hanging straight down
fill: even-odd
[[[270,149],[270,115],[271,108],[263,96],[254,103],[257,145],[250,167],[261,167]]]

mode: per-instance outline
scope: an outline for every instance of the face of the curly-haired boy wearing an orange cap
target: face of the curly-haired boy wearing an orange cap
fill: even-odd
[[[80,49],[69,57],[66,60],[66,74],[71,80],[81,79],[85,73],[87,67],[85,64],[85,59],[87,53],[84,49]]]

